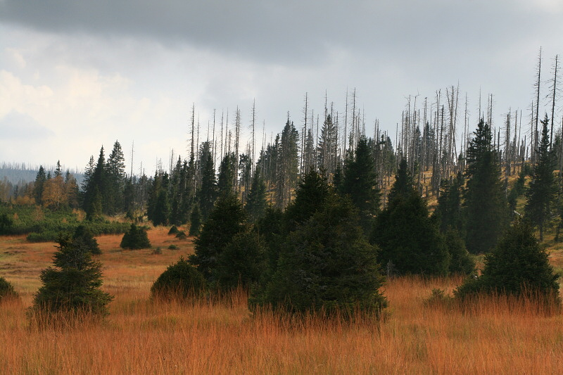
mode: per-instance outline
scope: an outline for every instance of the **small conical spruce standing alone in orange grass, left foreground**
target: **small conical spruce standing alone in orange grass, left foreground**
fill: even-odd
[[[34,312],[86,312],[107,314],[113,296],[101,291],[101,263],[80,238],[61,236],[53,255],[53,266],[41,272],[43,286],[35,295],[30,310]]]

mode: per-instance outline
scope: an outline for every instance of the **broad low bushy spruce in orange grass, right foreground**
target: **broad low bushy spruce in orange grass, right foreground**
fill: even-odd
[[[455,290],[455,295],[459,298],[476,293],[541,295],[559,301],[557,278],[531,224],[517,220],[486,255],[481,277],[466,281]]]

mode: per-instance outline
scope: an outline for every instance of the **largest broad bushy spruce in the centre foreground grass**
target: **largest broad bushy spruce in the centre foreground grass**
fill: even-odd
[[[350,201],[331,194],[282,247],[277,271],[253,303],[291,312],[379,314],[386,299],[377,248],[365,240]]]

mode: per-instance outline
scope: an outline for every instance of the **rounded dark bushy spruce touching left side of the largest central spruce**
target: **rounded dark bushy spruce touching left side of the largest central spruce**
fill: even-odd
[[[260,281],[266,266],[265,246],[252,231],[235,234],[217,259],[214,277],[223,290],[248,288]]]

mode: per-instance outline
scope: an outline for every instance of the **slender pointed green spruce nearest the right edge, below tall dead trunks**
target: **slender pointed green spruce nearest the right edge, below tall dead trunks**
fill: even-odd
[[[540,241],[543,241],[543,229],[545,222],[550,220],[553,209],[557,185],[555,184],[555,160],[550,151],[550,134],[548,130],[548,115],[541,132],[540,144],[536,151],[536,165],[533,166],[531,181],[526,190],[526,217],[540,230]]]

